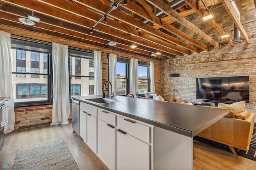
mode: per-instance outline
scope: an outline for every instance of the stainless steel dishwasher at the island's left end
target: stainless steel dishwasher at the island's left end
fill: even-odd
[[[75,131],[76,134],[79,135],[79,105],[80,102],[74,99],[72,101],[72,129],[73,132]]]

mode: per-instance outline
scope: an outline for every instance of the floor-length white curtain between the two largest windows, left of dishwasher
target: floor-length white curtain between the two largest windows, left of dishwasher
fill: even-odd
[[[52,43],[53,106],[51,125],[68,124],[70,115],[68,46]]]

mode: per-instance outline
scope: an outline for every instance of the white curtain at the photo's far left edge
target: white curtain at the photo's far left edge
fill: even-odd
[[[10,97],[6,101],[9,109],[7,112],[8,124],[4,126],[5,134],[14,130],[15,123],[11,65],[11,35],[0,31],[0,97]]]

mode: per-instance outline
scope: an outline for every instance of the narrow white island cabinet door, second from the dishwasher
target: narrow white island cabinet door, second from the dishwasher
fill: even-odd
[[[87,113],[87,144],[97,153],[97,118]]]

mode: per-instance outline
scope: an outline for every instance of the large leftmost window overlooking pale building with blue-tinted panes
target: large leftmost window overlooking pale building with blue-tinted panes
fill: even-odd
[[[52,103],[51,53],[50,45],[11,38],[14,106]]]

